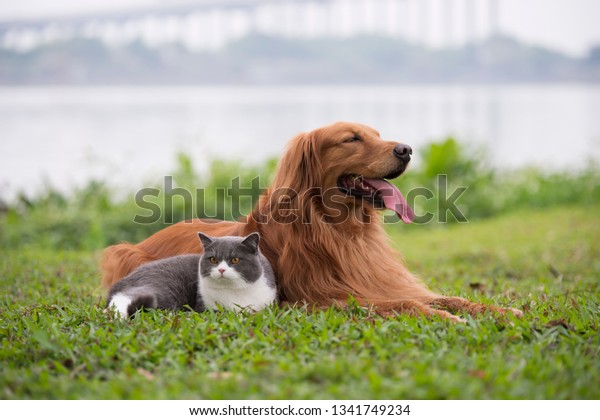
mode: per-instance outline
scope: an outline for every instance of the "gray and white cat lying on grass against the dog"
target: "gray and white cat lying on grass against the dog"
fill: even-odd
[[[130,317],[141,307],[202,312],[221,305],[260,310],[277,300],[275,275],[259,250],[260,235],[198,233],[203,254],[178,255],[138,267],[108,292],[107,307]]]

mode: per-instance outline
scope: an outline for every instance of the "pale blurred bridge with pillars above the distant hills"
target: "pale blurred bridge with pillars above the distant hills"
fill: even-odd
[[[198,0],[53,19],[0,21],[0,46],[28,50],[75,38],[216,50],[257,33],[292,38],[380,35],[459,46],[498,30],[500,0]]]

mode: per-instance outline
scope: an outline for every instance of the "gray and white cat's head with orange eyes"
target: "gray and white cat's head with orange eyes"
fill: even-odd
[[[262,275],[258,233],[246,237],[211,237],[198,232],[198,236],[204,247],[200,259],[200,275],[203,279],[224,287],[244,287]]]

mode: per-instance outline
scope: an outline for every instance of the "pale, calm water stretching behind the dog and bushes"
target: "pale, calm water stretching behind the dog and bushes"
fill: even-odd
[[[90,179],[137,189],[170,174],[180,151],[200,169],[216,157],[256,163],[339,120],[417,149],[453,135],[498,168],[579,168],[600,157],[594,85],[5,87],[0,197]]]

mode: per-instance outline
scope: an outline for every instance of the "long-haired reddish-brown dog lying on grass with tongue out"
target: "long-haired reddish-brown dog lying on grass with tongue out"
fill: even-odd
[[[409,146],[382,141],[360,124],[302,133],[289,143],[273,185],[249,216],[239,222],[180,222],[137,245],[111,246],[104,252],[102,283],[110,287],[149,261],[202,252],[198,231],[212,236],[258,231],[281,299],[289,303],[344,305],[352,295],[386,315],[438,315],[458,322],[463,320],[448,311],[520,315],[428,290],[388,245],[376,210],[390,208],[405,222],[412,220],[400,192],[384,180],[402,174],[411,153]]]

